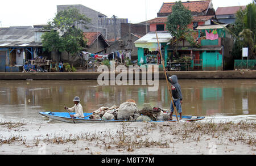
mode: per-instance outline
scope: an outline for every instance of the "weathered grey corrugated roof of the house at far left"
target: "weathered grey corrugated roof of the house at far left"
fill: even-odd
[[[0,46],[42,46],[35,42],[35,31],[39,30],[32,27],[0,28]]]

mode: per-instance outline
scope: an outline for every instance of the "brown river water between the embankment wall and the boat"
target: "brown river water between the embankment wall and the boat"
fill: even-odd
[[[183,79],[183,115],[256,120],[256,80]],[[134,99],[138,108],[170,109],[166,80],[158,91],[148,86],[98,86],[97,80],[0,80],[0,121],[45,122],[40,111],[65,112],[79,96],[84,112]]]

